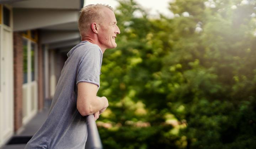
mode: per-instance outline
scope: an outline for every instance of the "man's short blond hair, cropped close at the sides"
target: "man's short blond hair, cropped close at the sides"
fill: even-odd
[[[80,11],[80,17],[78,21],[79,32],[86,33],[91,26],[91,23],[102,20],[102,8],[109,8],[113,11],[113,8],[105,4],[91,4],[83,7]]]

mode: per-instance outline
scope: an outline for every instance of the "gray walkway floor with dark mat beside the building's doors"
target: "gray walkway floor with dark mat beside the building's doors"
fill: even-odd
[[[46,120],[50,107],[50,101],[51,100],[46,100],[43,110],[38,112],[36,116],[34,116],[25,126],[23,126],[23,131],[20,134],[14,134],[10,141],[1,149],[24,149],[26,143],[31,139],[31,137],[37,132],[37,130]]]

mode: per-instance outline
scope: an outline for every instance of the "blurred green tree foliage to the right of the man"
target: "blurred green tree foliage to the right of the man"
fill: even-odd
[[[177,0],[171,19],[119,4],[98,93],[104,148],[255,148],[255,1]]]

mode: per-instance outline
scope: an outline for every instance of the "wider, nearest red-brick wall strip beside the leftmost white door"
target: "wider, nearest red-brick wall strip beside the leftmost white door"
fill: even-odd
[[[22,126],[23,49],[22,35],[14,32],[14,131]]]

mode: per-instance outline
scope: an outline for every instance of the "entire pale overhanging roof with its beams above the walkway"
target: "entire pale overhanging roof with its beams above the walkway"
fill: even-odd
[[[78,19],[83,4],[84,0],[13,0],[14,31],[40,29],[42,44],[67,51],[80,42]]]

